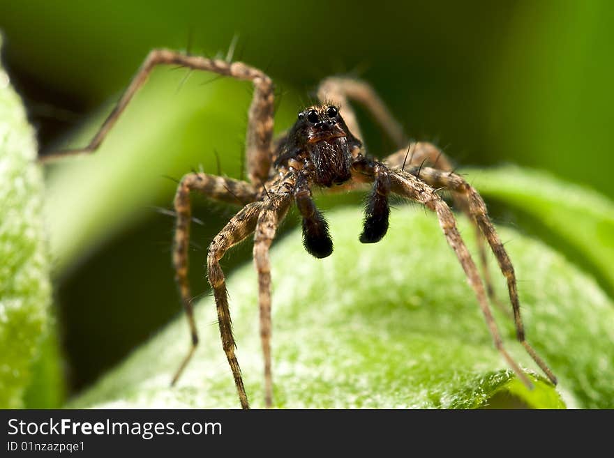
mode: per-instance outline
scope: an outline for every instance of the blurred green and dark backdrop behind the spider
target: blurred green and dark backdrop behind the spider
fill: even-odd
[[[86,144],[151,48],[225,55],[237,35],[235,59],[265,69],[277,83],[278,131],[292,123],[320,79],[350,72],[375,86],[411,137],[437,142],[458,165],[544,169],[613,197],[613,13],[614,3],[606,0],[361,6],[1,0],[0,29],[6,66],[43,150]],[[131,166],[110,167],[104,183],[87,171],[98,167],[94,161],[49,171],[51,190],[69,175],[66,186],[75,194],[74,201],[52,207],[53,224],[77,239],[87,234],[57,250],[56,259],[72,391],[181,312],[170,266],[172,217],[154,208],[171,206],[175,185],[163,175],[180,178],[200,166],[216,173],[214,151],[225,174],[240,174],[249,86],[186,76],[168,69],[152,75],[100,151],[106,165],[96,158],[100,167]],[[391,144],[368,116],[362,121],[370,153],[389,152]],[[83,171],[75,171],[79,167]],[[123,187],[108,184],[117,181]],[[106,208],[91,208],[87,196],[94,191],[112,195]],[[193,291],[204,293],[203,247],[234,209],[196,200],[195,216],[205,224],[193,225],[199,244]],[[491,208],[498,221],[517,222],[523,231],[539,226],[496,202]],[[98,219],[88,212],[98,212]],[[572,248],[566,254],[577,255]],[[250,247],[242,245],[225,268],[249,257]],[[160,310],[147,309],[150,303]]]

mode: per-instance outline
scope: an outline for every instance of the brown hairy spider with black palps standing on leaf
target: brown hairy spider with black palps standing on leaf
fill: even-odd
[[[516,337],[534,362],[553,384],[557,383],[536,351],[525,339],[521,319],[514,267],[505,251],[486,211],[480,194],[465,179],[455,174],[447,157],[433,144],[409,142],[400,125],[394,120],[384,103],[368,84],[357,79],[329,77],[317,91],[320,102],[302,109],[290,130],[273,139],[274,84],[264,72],[241,62],[207,59],[183,54],[170,49],[153,49],[142,63],[132,82],[124,91],[116,107],[107,117],[89,145],[82,149],[66,150],[46,155],[43,162],[76,153],[93,153],[103,142],[135,93],[144,84],[153,68],[174,65],[191,70],[214,72],[253,83],[254,93],[248,112],[246,135],[247,181],[223,176],[193,172],[186,174],[174,197],[176,224],[172,263],[175,281],[188,318],[191,346],[181,361],[172,385],[177,383],[198,344],[198,333],[193,315],[192,295],[188,283],[188,242],[190,238],[190,192],[201,192],[210,199],[237,203],[243,208],[227,222],[214,237],[207,252],[207,277],[214,291],[218,325],[223,350],[232,370],[241,407],[249,408],[248,397],[235,354],[230,309],[228,307],[225,277],[220,259],[227,250],[254,234],[253,259],[258,277],[258,303],[260,306],[260,339],[264,354],[264,400],[273,406],[273,378],[271,375],[271,269],[269,247],[276,229],[292,204],[302,218],[305,249],[317,258],[333,252],[329,227],[312,198],[312,188],[349,190],[369,183],[364,215],[362,243],[376,243],[387,232],[390,194],[415,201],[435,212],[443,234],[460,262],[470,283],[477,303],[484,314],[486,325],[496,349],[523,383],[532,383],[518,363],[503,346],[502,338],[491,314],[488,299],[496,298],[491,280],[486,273],[484,240],[495,254],[500,270],[507,279],[509,299],[514,314]],[[360,140],[361,132],[349,100],[363,104],[398,145],[398,151],[384,160],[367,155]],[[455,204],[467,214],[474,225],[483,266],[484,283],[456,227],[454,214],[437,194],[448,190]],[[486,284],[486,287],[484,287]]]

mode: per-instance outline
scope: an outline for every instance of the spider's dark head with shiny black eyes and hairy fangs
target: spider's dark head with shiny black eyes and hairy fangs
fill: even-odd
[[[313,181],[329,187],[352,177],[352,151],[360,146],[339,114],[339,107],[313,105],[299,112],[278,162],[303,158],[313,165]]]

